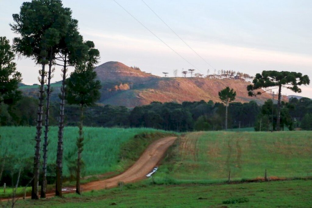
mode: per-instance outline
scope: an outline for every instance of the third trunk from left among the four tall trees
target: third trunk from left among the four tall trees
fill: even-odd
[[[62,197],[62,175],[63,175],[63,131],[64,131],[64,105],[65,105],[65,87],[66,87],[66,61],[67,56],[64,57],[63,80],[61,87],[61,106],[60,106],[60,121],[58,130],[57,155],[56,155],[56,184],[55,195]]]

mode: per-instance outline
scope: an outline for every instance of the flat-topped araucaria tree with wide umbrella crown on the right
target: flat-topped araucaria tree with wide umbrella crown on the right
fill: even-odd
[[[278,102],[277,102],[277,120],[276,130],[280,131],[280,109],[281,109],[281,91],[282,88],[290,89],[293,92],[300,93],[300,85],[309,85],[310,79],[308,75],[302,75],[297,72],[289,71],[262,71],[262,74],[256,74],[256,77],[252,81],[253,85],[248,85],[248,95],[256,96],[263,92],[254,92],[254,90],[261,88],[278,89]]]

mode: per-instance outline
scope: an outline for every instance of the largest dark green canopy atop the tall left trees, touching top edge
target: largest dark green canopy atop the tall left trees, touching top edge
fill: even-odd
[[[42,64],[49,51],[56,48],[68,29],[70,8],[60,0],[24,2],[19,14],[13,14],[12,30],[20,37],[13,39],[15,51]]]

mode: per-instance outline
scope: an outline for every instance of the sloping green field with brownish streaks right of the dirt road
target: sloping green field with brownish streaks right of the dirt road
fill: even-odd
[[[179,138],[155,174],[159,183],[210,183],[312,175],[311,132],[196,132]]]

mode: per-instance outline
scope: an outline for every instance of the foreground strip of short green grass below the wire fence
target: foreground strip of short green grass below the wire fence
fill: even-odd
[[[312,181],[271,181],[231,185],[152,186],[148,181],[83,196],[39,201],[20,200],[17,207],[311,207]],[[243,200],[240,200],[243,199]],[[242,203],[233,203],[235,201]]]

